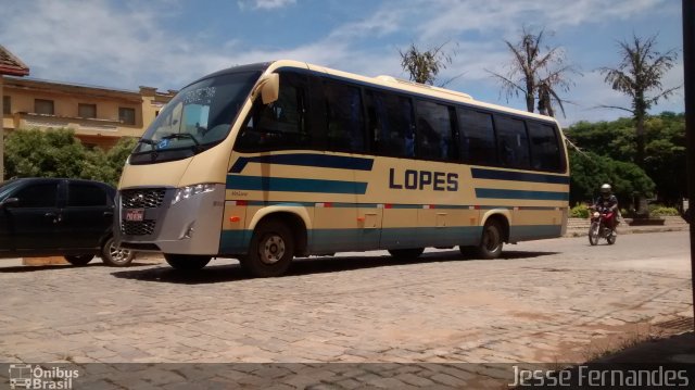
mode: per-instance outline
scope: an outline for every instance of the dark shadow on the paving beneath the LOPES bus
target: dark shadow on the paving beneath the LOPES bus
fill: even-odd
[[[494,261],[506,261],[515,259],[540,257],[557,254],[556,252],[521,252],[509,251],[503,252],[502,257]],[[287,275],[281,277],[294,277],[312,274],[337,273],[354,269],[367,269],[375,267],[389,267],[396,265],[424,264],[431,262],[452,262],[452,261],[488,261],[488,260],[469,260],[462,257],[458,250],[445,252],[425,253],[417,259],[394,259],[388,255],[383,256],[321,256],[321,257],[302,257],[295,259],[290,266]],[[250,277],[241,269],[238,264],[230,265],[213,265],[206,266],[199,271],[179,271],[172,267],[162,266],[148,269],[137,271],[118,271],[112,273],[113,276],[125,279],[136,279],[144,281],[159,281],[172,284],[214,284],[249,279]]]

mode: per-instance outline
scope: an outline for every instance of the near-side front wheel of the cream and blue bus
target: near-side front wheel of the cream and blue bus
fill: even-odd
[[[294,257],[294,239],[283,223],[262,222],[253,231],[249,253],[240,260],[243,269],[253,277],[280,276]]]

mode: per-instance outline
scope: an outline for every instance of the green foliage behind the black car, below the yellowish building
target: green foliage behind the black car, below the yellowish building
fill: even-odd
[[[85,148],[72,129],[15,130],[5,139],[5,176],[73,177],[116,185],[136,142],[122,138],[104,152]]]

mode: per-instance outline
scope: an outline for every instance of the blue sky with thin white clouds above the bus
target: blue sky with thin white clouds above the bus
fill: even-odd
[[[30,77],[138,90],[180,89],[205,74],[254,62],[291,59],[366,76],[407,78],[399,50],[445,43],[452,63],[440,80],[475,99],[526,110],[491,72],[506,74],[505,40],[522,27],[545,32],[570,74],[564,126],[611,121],[630,106],[599,67],[617,67],[618,42],[657,35],[674,49],[664,87],[683,84],[679,0],[0,0],[0,45]],[[683,91],[652,113],[683,112]]]

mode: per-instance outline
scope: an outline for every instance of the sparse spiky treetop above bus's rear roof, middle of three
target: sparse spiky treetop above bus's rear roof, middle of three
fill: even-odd
[[[553,104],[557,104],[565,114],[560,91],[567,92],[572,83],[567,78],[568,73],[580,74],[571,65],[565,64],[565,53],[558,47],[543,46],[545,32],[539,34],[521,29],[521,39],[517,43],[505,40],[511,52],[506,75],[488,71],[501,84],[507,100],[511,97],[523,96],[526,108],[534,112],[538,97],[538,109],[543,115],[555,116]]]

